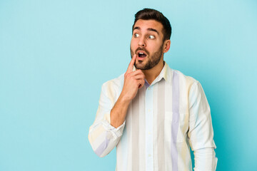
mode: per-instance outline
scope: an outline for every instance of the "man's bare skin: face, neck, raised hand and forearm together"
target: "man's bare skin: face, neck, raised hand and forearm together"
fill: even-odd
[[[139,88],[142,88],[145,79],[151,84],[161,73],[163,55],[171,45],[170,40],[163,41],[163,26],[155,20],[136,21],[131,38],[131,62],[124,75],[124,87],[121,95],[111,110],[111,125],[118,128],[126,118],[129,103],[136,97]],[[145,58],[137,55],[138,50],[147,54]],[[150,68],[146,68],[149,66]],[[136,71],[133,71],[133,65]]]

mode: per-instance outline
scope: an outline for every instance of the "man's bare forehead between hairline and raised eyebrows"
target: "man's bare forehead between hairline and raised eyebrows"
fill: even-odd
[[[136,21],[135,25],[133,26],[133,28],[141,28],[141,30],[144,29],[148,29],[148,28],[154,28],[157,31],[161,32],[163,29],[163,26],[160,22],[155,21],[155,20],[142,20],[142,19],[138,19],[138,21]]]

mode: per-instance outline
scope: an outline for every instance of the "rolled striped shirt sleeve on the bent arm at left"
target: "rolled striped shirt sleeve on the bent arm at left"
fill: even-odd
[[[102,86],[96,119],[89,128],[89,142],[99,157],[106,156],[114,149],[121,138],[125,125],[124,123],[119,128],[114,128],[110,124],[110,111],[117,95],[117,90],[111,86],[112,84],[113,82],[109,81]],[[113,90],[110,90],[110,87]]]

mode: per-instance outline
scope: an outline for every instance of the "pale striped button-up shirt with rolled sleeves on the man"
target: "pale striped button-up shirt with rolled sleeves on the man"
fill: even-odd
[[[134,68],[135,70],[135,68]],[[138,90],[125,122],[111,126],[110,111],[119,98],[124,74],[102,86],[89,142],[104,157],[116,147],[116,170],[216,170],[211,113],[201,84],[168,67]]]

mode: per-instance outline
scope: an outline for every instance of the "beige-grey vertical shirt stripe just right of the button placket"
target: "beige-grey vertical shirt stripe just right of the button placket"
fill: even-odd
[[[158,112],[157,119],[157,154],[158,154],[158,170],[165,170],[165,152],[164,152],[164,118],[165,118],[165,81],[158,83]]]

